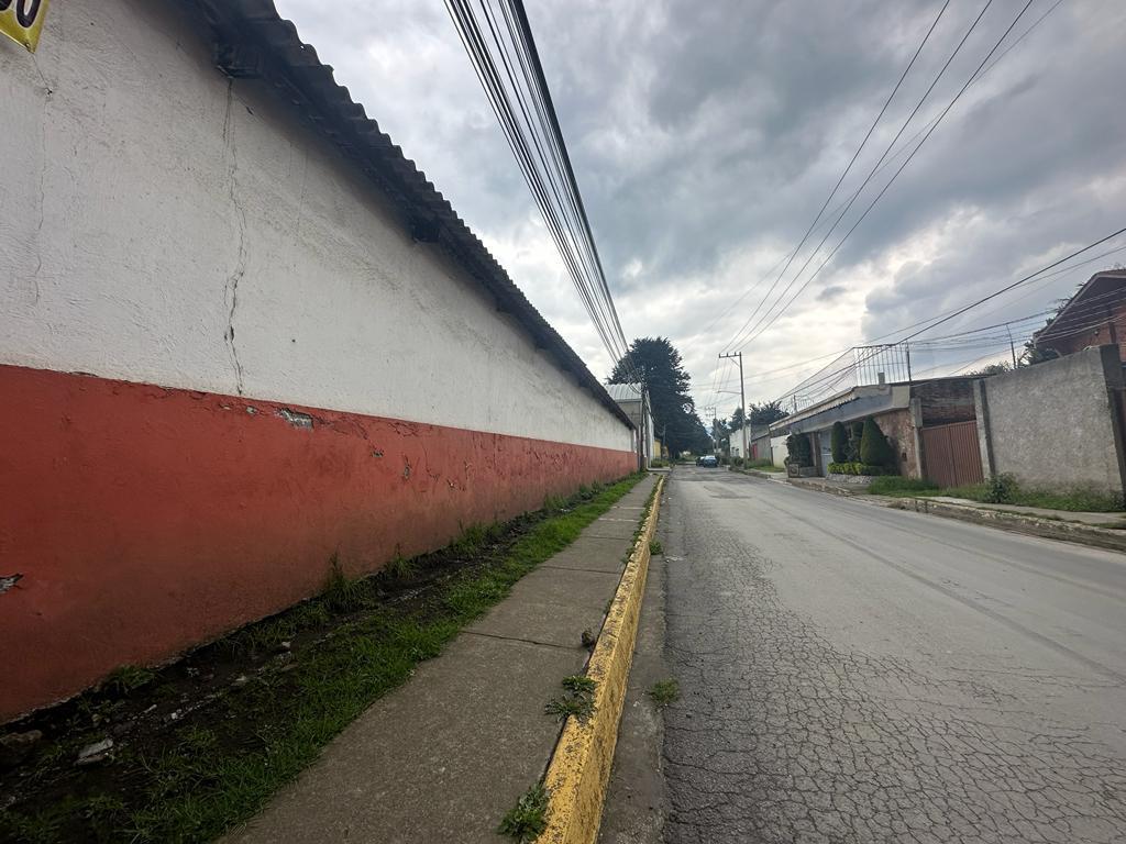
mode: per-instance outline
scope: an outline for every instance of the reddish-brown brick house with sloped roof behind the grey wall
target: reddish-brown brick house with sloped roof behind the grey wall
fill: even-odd
[[[1087,280],[1033,345],[1061,358],[1092,345],[1117,345],[1126,359],[1126,270],[1102,270]]]

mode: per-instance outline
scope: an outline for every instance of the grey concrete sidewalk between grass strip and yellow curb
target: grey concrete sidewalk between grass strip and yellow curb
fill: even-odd
[[[582,672],[582,632],[601,628],[655,483],[642,481],[521,578],[223,841],[507,841],[497,825],[543,775],[560,735],[544,704]]]

